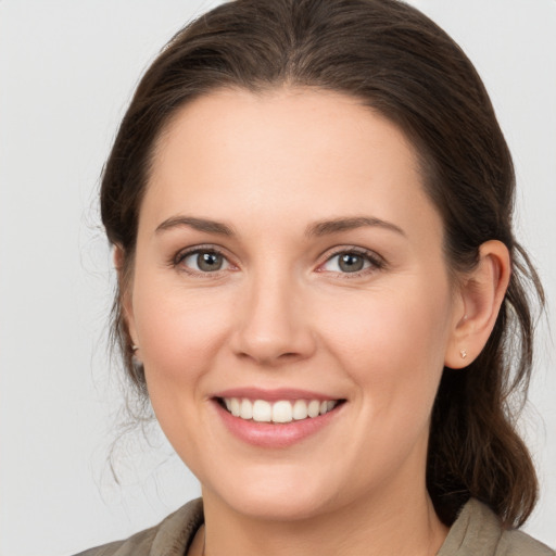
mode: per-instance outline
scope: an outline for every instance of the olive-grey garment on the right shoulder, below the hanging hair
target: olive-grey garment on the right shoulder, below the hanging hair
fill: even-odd
[[[438,556],[556,556],[519,530],[505,530],[484,504],[470,500],[462,509]]]

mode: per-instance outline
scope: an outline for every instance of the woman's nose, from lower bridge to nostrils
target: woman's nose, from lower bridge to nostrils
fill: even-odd
[[[257,277],[238,300],[232,349],[237,356],[276,367],[311,357],[316,333],[303,287],[288,277]]]

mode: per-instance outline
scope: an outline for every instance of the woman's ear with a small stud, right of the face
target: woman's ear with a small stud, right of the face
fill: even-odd
[[[455,316],[444,365],[467,367],[491,336],[510,277],[510,256],[504,243],[486,241],[479,248],[479,263],[459,286],[462,304]]]

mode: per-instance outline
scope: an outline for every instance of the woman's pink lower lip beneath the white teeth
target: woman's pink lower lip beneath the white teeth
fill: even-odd
[[[285,424],[257,422],[233,417],[218,402],[214,402],[218,415],[226,428],[238,439],[260,447],[281,448],[288,447],[302,440],[316,434],[338,418],[344,404],[334,407],[331,412],[317,417],[308,417],[299,421]]]

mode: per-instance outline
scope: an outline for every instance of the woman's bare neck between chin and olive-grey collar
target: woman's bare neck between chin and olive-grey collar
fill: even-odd
[[[432,556],[447,529],[438,519],[425,488],[412,495],[392,490],[292,521],[245,516],[222,500],[203,493],[205,529],[191,554],[205,556]]]

